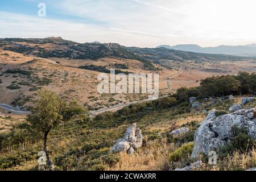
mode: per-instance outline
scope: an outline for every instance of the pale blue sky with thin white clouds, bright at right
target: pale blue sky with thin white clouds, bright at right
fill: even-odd
[[[38,16],[45,3],[46,16]],[[255,0],[1,0],[0,38],[123,46],[256,43]]]

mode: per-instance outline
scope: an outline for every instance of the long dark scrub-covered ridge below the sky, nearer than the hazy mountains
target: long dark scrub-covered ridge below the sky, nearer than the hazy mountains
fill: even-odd
[[[247,57],[233,55],[196,53],[196,51],[191,52],[191,49],[189,49],[188,52],[162,47],[125,47],[117,43],[102,44],[100,42],[93,42],[81,44],[64,40],[60,37],[50,37],[45,39],[5,38],[0,39],[0,49],[43,58],[59,57],[69,59],[98,60],[104,57],[118,57],[121,59],[139,60],[144,64],[145,69],[150,70],[155,70],[156,68],[152,63],[158,64],[160,60],[234,61],[247,59]],[[254,49],[253,45],[251,49]]]

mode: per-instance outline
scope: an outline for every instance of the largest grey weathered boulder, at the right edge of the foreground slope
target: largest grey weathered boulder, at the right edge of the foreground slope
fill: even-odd
[[[256,108],[242,109],[217,117],[216,110],[210,111],[196,131],[191,158],[198,158],[200,154],[208,155],[209,151],[217,151],[219,147],[226,146],[233,126],[246,128],[250,137],[256,139],[255,113]]]

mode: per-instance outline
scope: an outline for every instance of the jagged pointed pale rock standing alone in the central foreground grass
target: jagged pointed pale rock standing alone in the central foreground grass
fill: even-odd
[[[142,140],[141,129],[136,129],[136,123],[134,123],[127,129],[125,137],[119,139],[110,151],[113,153],[127,152],[127,154],[133,154],[142,146]]]

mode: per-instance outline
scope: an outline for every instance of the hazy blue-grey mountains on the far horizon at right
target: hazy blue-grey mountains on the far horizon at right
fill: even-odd
[[[179,51],[199,52],[199,53],[216,53],[234,56],[256,57],[256,44],[247,44],[245,46],[217,46],[217,47],[200,47],[196,44],[179,44],[176,46],[162,45],[164,47]]]

